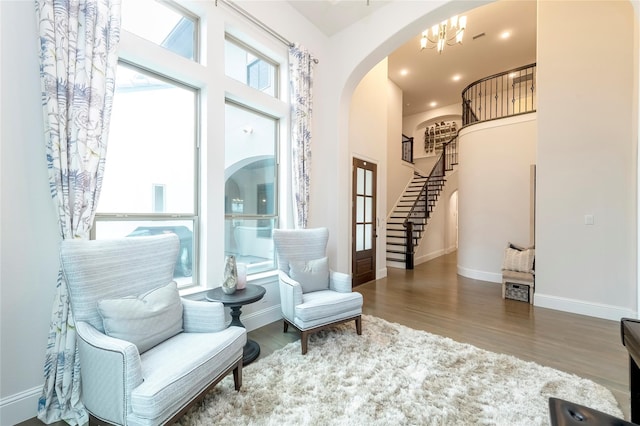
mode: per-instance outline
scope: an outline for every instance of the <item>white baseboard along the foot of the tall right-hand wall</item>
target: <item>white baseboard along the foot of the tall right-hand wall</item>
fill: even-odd
[[[555,309],[557,311],[573,314],[587,315],[590,317],[620,321],[620,318],[636,318],[637,312],[620,306],[604,305],[601,303],[585,302],[584,300],[568,299],[558,296],[534,293],[535,306]]]

